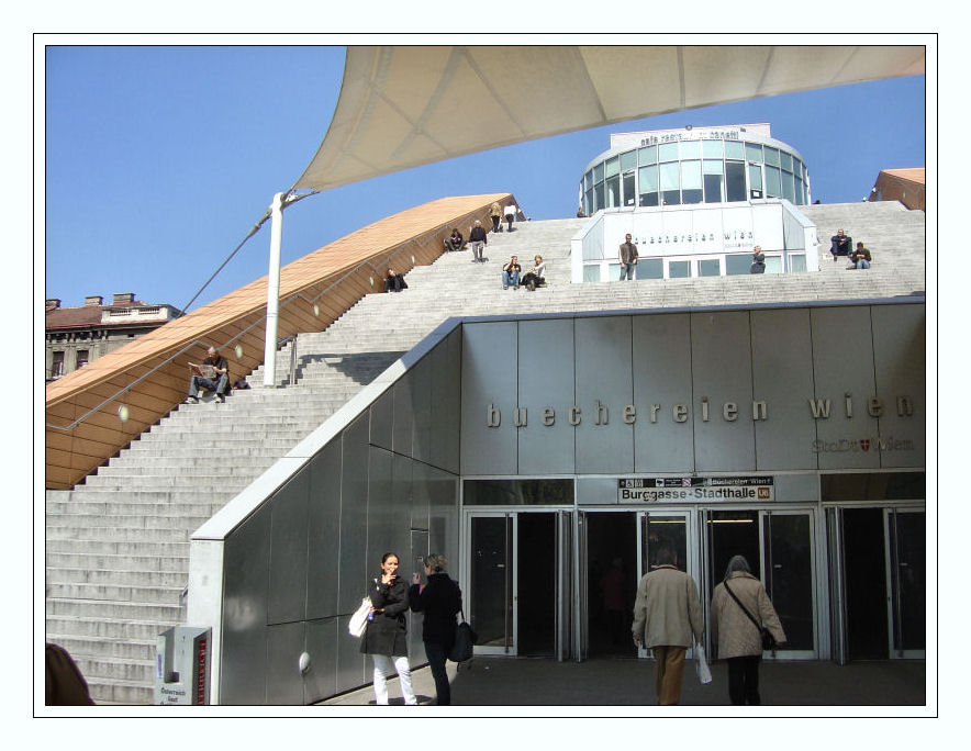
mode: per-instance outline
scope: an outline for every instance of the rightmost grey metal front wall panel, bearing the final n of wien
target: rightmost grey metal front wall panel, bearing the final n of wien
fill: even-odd
[[[877,396],[883,401],[881,466],[924,467],[927,450],[924,305],[874,305],[871,310]],[[897,404],[901,397],[909,400],[909,408]]]

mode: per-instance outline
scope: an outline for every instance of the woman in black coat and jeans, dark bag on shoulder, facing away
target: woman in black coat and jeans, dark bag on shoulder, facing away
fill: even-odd
[[[451,704],[451,691],[448,686],[448,674],[445,672],[445,659],[455,646],[455,614],[462,608],[462,594],[448,574],[445,567],[448,561],[436,553],[425,558],[425,584],[420,584],[421,576],[415,574],[409,592],[411,609],[424,613],[422,624],[422,641],[425,642],[425,655],[435,679],[435,696],[438,706]]]

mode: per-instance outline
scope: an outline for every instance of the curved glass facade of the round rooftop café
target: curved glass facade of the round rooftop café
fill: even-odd
[[[794,149],[744,127],[714,132],[724,137],[663,132],[667,143],[607,152],[580,180],[583,211],[764,198],[810,203],[808,171]]]

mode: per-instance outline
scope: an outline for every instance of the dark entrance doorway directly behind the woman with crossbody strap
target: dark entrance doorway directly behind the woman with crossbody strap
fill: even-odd
[[[744,556],[782,623],[786,643],[775,657],[816,655],[812,512],[706,509],[705,605],[725,578],[728,561]],[[706,619],[710,628],[710,619]],[[716,646],[713,646],[716,647]]]

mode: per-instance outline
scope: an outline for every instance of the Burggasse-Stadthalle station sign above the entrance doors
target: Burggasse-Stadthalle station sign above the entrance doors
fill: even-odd
[[[732,478],[621,478],[618,503],[771,502],[775,500],[771,477]]]

